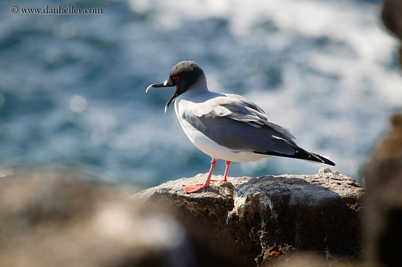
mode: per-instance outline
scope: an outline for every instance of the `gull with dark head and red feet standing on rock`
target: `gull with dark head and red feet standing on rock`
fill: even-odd
[[[176,87],[165,106],[174,100],[180,125],[200,151],[212,158],[204,183],[184,185],[186,193],[209,187],[211,181],[227,181],[231,162],[254,162],[269,157],[287,157],[335,166],[335,163],[296,145],[290,129],[268,121],[265,112],[247,98],[208,89],[204,70],[194,61],[181,61],[170,70],[167,80],[148,86]],[[224,178],[211,179],[217,160],[225,160]]]

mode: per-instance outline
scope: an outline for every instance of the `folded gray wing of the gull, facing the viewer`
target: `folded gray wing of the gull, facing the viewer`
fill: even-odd
[[[293,155],[297,147],[289,129],[269,122],[259,106],[239,95],[194,103],[183,118],[219,145],[235,151]]]

